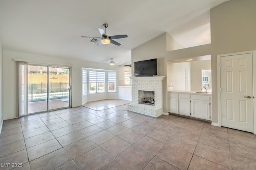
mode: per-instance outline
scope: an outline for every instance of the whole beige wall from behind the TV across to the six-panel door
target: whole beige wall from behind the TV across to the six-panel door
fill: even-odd
[[[132,50],[134,61],[158,58],[158,76],[166,76],[167,61],[211,55],[212,122],[218,123],[217,55],[256,49],[256,0],[230,0],[210,10],[211,44],[166,51],[166,33]],[[132,67],[133,69],[133,67]],[[167,81],[164,79],[163,111],[167,112]]]

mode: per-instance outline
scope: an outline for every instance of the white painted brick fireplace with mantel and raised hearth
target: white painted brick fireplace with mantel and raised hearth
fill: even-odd
[[[164,76],[132,77],[132,103],[128,105],[128,110],[152,117],[162,115],[163,80]],[[154,92],[154,106],[141,103],[140,91]]]

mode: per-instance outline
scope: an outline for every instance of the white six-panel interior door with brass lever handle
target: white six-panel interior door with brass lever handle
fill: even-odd
[[[254,131],[252,53],[220,57],[222,126]]]

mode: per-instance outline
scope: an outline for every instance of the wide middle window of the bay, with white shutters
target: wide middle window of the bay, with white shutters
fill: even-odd
[[[104,93],[105,92],[105,72],[103,71],[89,71],[90,93]]]

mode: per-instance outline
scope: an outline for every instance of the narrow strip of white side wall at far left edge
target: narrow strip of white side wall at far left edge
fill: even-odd
[[[2,48],[2,41],[1,41],[1,34],[0,34],[0,133],[2,129],[2,96],[3,96],[3,48]]]

